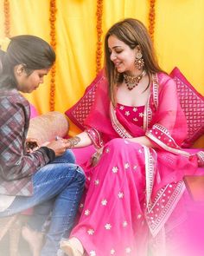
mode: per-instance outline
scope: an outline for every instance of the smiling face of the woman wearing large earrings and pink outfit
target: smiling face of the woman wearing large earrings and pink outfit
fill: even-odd
[[[137,48],[131,49],[129,45],[120,41],[117,36],[109,36],[108,48],[111,60],[119,73],[132,73],[136,70],[135,59]]]

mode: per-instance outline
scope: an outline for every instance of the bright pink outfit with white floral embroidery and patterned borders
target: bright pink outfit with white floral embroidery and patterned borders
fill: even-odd
[[[197,158],[180,148],[187,124],[175,82],[152,77],[145,106],[113,108],[103,83],[87,117],[86,132],[102,154],[95,166],[89,160],[84,167],[86,200],[71,233],[87,255],[145,256],[148,248],[165,255],[168,234],[185,220],[182,177],[194,174]],[[157,148],[128,140],[143,135]]]

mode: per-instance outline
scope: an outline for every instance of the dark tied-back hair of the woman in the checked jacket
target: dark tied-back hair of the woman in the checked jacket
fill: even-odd
[[[27,75],[35,69],[48,69],[55,61],[54,49],[38,36],[22,35],[10,38],[3,56],[0,88],[16,88],[14,68],[22,64]]]

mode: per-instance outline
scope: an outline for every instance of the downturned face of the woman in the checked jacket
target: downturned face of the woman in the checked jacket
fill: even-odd
[[[44,81],[44,75],[48,75],[49,69],[35,69],[30,75],[25,70],[16,70],[17,89],[23,93],[31,93]]]

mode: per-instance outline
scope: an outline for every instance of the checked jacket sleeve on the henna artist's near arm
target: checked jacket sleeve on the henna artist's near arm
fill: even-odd
[[[22,95],[0,97],[0,176],[15,181],[34,174],[49,162],[46,150],[25,153],[29,103]]]

